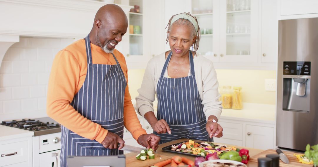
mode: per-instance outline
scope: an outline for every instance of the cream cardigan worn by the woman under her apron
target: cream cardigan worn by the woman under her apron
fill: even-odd
[[[138,89],[139,96],[136,97],[136,111],[141,116],[149,111],[154,112],[153,102],[155,101],[157,84],[165,61],[165,53],[162,53],[149,60],[147,64],[141,88]],[[218,92],[218,80],[214,66],[209,59],[200,55],[194,56],[193,62],[197,88],[204,105],[203,112],[206,119],[210,115],[219,119],[222,112],[222,102],[218,100],[221,95]],[[167,71],[165,77],[168,77]]]

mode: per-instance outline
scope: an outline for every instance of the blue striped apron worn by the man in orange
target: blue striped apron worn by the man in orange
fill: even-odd
[[[101,125],[109,132],[123,138],[124,94],[127,85],[116,57],[116,65],[92,63],[89,35],[85,39],[87,74],[83,86],[70,105],[88,120]],[[66,167],[66,157],[107,156],[123,154],[118,149],[107,149],[96,140],[86,139],[62,126],[61,167]]]

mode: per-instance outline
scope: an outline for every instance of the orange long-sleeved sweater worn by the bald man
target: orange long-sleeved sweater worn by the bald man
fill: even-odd
[[[91,44],[93,64],[116,64],[112,54],[105,53],[99,46]],[[114,50],[121,69],[128,82],[128,69],[124,56]],[[85,40],[75,41],[59,51],[54,58],[47,92],[47,114],[74,133],[87,139],[101,143],[107,130],[99,124],[84,118],[70,103],[74,95],[82,87],[87,73],[87,57]],[[147,134],[137,118],[131,103],[128,85],[124,98],[124,126],[138,140],[142,134]]]

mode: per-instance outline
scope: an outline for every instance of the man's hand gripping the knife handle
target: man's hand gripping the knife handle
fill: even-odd
[[[125,141],[121,139],[117,134],[111,133],[108,131],[105,139],[101,142],[101,144],[105,148],[116,149],[118,147],[118,143],[120,144],[119,150],[124,146]]]

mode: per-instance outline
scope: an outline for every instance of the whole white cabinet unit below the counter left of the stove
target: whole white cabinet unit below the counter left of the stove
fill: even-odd
[[[0,141],[0,166],[32,166],[32,137]]]

